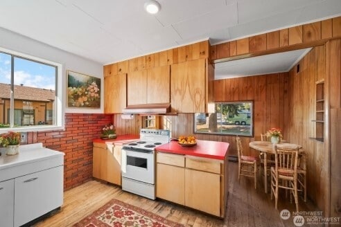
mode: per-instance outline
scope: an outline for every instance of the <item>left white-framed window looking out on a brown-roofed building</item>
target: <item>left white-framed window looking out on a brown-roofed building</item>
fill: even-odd
[[[0,131],[62,127],[62,66],[0,48]]]

